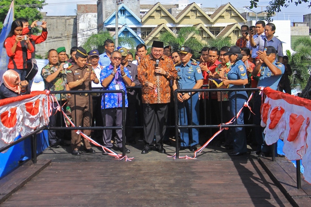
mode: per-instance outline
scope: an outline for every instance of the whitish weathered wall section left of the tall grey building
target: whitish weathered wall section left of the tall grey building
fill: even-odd
[[[87,38],[97,33],[97,14],[85,13],[77,15],[77,43],[82,46]]]

